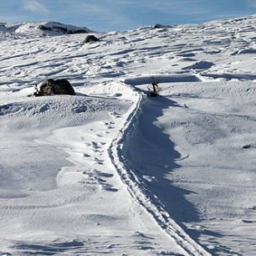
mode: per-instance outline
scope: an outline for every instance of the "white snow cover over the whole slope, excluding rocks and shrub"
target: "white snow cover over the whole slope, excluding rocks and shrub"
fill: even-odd
[[[0,254],[255,255],[255,26],[0,23]]]

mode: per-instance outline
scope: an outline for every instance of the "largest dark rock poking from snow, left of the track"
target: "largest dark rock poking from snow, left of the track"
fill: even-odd
[[[75,95],[75,92],[72,85],[66,79],[47,79],[33,95]]]

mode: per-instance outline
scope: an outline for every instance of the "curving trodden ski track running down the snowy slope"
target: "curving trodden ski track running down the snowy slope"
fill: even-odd
[[[131,197],[156,221],[163,233],[174,239],[177,245],[184,249],[188,255],[211,255],[175,223],[169,213],[166,212],[161,201],[143,186],[139,177],[136,176],[136,173],[132,171],[131,166],[125,160],[125,151],[123,150],[125,140],[132,135],[136,120],[141,115],[140,108],[142,101],[143,95],[138,92],[138,100],[135,103],[135,107],[131,110],[118,136],[110,144],[108,149],[110,160],[115,166],[115,170],[119,174],[121,181],[126,185]]]

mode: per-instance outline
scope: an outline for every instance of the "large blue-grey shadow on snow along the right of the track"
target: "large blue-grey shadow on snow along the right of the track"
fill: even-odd
[[[155,125],[163,110],[171,106],[180,107],[175,101],[164,97],[146,99],[141,105],[141,115],[134,131],[125,143],[125,155],[147,190],[158,197],[172,219],[198,242],[200,231],[187,229],[183,224],[200,221],[199,212],[185,198],[192,191],[175,187],[172,180],[167,178],[180,167],[175,160],[180,159],[181,155],[175,150],[170,137],[163,132],[163,127]]]

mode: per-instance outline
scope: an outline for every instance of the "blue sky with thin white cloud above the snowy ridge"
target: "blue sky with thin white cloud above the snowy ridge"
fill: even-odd
[[[0,0],[0,22],[58,21],[97,31],[203,23],[256,13],[256,0]]]

